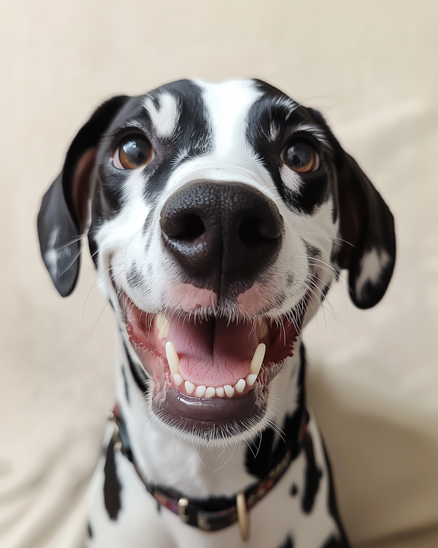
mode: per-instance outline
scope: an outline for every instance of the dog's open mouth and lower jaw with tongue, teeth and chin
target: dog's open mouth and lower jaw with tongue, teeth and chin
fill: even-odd
[[[182,436],[220,441],[267,423],[269,384],[293,354],[299,326],[284,318],[194,321],[120,306],[132,348],[152,379],[152,411]]]

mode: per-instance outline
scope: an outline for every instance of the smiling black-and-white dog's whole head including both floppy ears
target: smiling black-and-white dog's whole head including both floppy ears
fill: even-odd
[[[87,230],[149,409],[207,440],[266,424],[270,383],[339,270],[367,308],[395,260],[388,208],[324,119],[260,81],[103,104],[38,217],[62,295]]]

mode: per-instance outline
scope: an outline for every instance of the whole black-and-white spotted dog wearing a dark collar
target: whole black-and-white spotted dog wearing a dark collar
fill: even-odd
[[[74,138],[38,233],[62,296],[88,235],[118,318],[87,546],[348,546],[301,331],[342,269],[356,306],[382,298],[395,235],[322,116],[256,80],[115,97]]]

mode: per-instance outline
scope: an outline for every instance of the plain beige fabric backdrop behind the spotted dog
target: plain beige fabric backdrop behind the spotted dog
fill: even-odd
[[[325,113],[396,216],[375,309],[309,326],[310,404],[355,546],[438,545],[436,2],[15,0],[0,5],[0,546],[77,548],[114,401],[110,307],[88,252],[62,300],[39,201],[102,100],[255,76]],[[406,533],[406,534],[404,534]]]

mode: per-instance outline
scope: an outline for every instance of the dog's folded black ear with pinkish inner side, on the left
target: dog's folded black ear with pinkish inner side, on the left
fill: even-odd
[[[38,213],[39,247],[58,292],[66,297],[79,276],[81,238],[89,222],[90,178],[99,141],[128,100],[106,101],[70,145],[61,173],[45,193]]]

